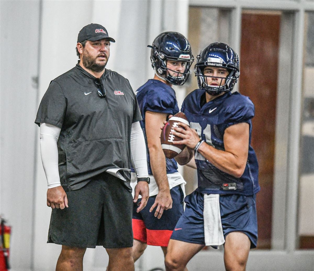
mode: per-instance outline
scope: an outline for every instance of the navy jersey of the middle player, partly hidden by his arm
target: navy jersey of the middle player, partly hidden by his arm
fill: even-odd
[[[136,91],[136,98],[138,100],[138,106],[142,114],[143,120],[140,121],[141,128],[143,130],[146,153],[147,153],[147,168],[148,174],[153,175],[150,168],[149,149],[147,147],[147,137],[145,130],[145,112],[158,112],[166,113],[168,115],[175,115],[179,112],[179,107],[176,101],[175,91],[165,83],[150,79],[143,86]],[[161,130],[160,130],[161,133]],[[175,159],[166,159],[166,171],[167,174],[178,172],[178,166]],[[133,167],[131,168],[134,172]]]

